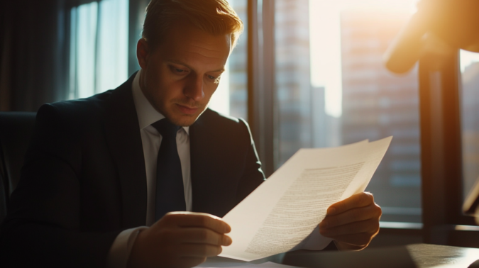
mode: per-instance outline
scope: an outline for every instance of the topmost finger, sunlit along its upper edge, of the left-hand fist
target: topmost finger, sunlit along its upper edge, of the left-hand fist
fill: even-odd
[[[229,233],[231,227],[221,218],[207,213],[170,212],[160,220],[165,225],[178,227],[202,227],[214,230],[216,233]]]

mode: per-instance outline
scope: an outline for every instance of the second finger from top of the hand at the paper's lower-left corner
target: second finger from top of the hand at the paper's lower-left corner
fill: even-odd
[[[231,245],[231,238],[207,228],[181,228],[171,232],[170,240],[177,243]]]

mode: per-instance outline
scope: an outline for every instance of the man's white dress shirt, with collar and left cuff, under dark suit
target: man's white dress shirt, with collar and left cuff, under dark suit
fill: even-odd
[[[133,102],[135,103],[136,114],[138,116],[138,128],[141,133],[141,143],[143,144],[143,155],[145,157],[146,169],[146,225],[151,226],[155,223],[155,197],[156,197],[156,160],[158,150],[161,145],[161,135],[158,130],[151,125],[158,120],[165,118],[163,114],[153,108],[150,101],[146,99],[140,88],[141,69],[133,79],[132,92]],[[176,135],[178,155],[180,156],[181,169],[183,175],[183,186],[185,189],[185,203],[187,211],[192,211],[192,184],[190,172],[189,157],[189,127],[183,127],[178,130]],[[124,268],[140,230],[148,228],[147,226],[138,226],[123,230],[111,245],[108,255],[109,267]]]

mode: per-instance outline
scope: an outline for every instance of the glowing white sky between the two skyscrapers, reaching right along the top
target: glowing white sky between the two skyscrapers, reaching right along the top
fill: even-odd
[[[311,83],[324,86],[326,113],[341,116],[341,31],[343,9],[377,9],[414,13],[417,0],[309,0]]]

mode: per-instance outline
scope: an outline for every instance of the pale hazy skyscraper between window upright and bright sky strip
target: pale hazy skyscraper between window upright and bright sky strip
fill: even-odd
[[[275,1],[277,167],[312,146],[308,9],[308,0]]]

